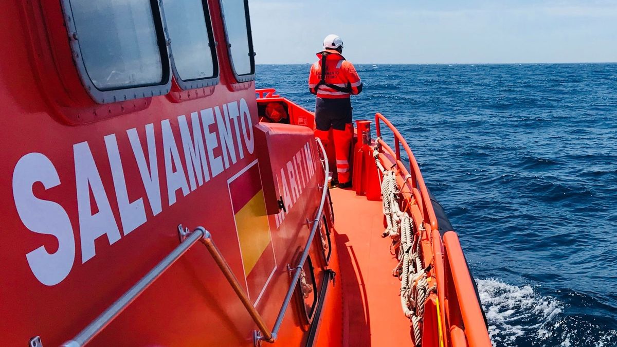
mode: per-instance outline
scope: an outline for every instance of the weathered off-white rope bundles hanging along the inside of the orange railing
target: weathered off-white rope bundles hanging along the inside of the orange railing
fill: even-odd
[[[421,345],[421,324],[424,316],[424,303],[431,291],[427,272],[422,264],[420,251],[421,230],[415,230],[413,218],[400,211],[400,191],[397,185],[397,172],[386,170],[379,161],[379,148],[373,151],[381,180],[383,213],[386,216],[386,230],[382,237],[392,239],[391,253],[399,259],[399,264],[392,270],[392,275],[400,278],[400,303],[405,316],[410,320],[413,331],[413,343]],[[398,249],[398,253],[397,250]]]

